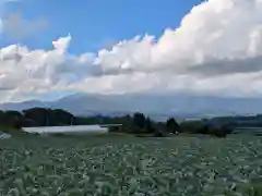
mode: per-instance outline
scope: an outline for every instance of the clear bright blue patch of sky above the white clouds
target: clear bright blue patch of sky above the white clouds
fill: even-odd
[[[179,25],[201,0],[21,0],[8,8],[24,20],[45,19],[48,28],[20,40],[28,48],[50,48],[51,41],[69,33],[70,52],[82,53],[110,47],[136,35],[160,36],[165,28]],[[1,39],[0,45],[13,44]]]

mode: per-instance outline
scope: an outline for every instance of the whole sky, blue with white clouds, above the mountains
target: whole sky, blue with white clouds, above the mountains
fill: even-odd
[[[262,0],[0,0],[0,101],[262,96]]]

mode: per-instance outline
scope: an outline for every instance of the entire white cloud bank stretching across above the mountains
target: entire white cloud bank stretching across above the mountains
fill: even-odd
[[[51,50],[2,48],[7,99],[51,90],[262,94],[261,0],[210,0],[159,39],[138,36],[97,53],[69,54],[70,40],[53,41]]]

